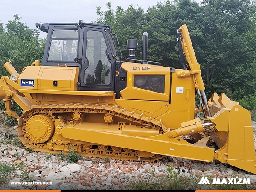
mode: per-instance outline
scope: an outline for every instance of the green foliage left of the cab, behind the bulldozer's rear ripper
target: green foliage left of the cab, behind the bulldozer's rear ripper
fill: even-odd
[[[14,19],[9,20],[4,27],[0,23],[0,75],[10,76],[8,71],[3,67],[3,64],[12,60],[12,64],[18,73],[21,73],[23,68],[35,62],[42,60],[45,46],[45,39],[38,38],[38,31],[29,29],[25,23],[21,23],[21,18],[18,15],[13,15]],[[5,106],[0,101],[0,109]],[[12,110],[18,115],[21,114],[21,109],[14,102]],[[16,120],[10,118],[10,124],[15,125]]]

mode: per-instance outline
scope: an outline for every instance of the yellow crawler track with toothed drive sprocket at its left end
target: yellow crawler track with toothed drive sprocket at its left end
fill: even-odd
[[[26,146],[34,151],[44,151],[48,153],[58,153],[59,151],[68,151],[68,146],[72,147],[85,157],[100,157],[106,156],[113,159],[120,160],[138,160],[155,161],[161,159],[163,156],[158,154],[151,154],[144,151],[137,151],[128,148],[119,148],[115,146],[98,145],[97,143],[85,143],[79,140],[56,140],[55,137],[55,121],[61,120],[62,124],[79,119],[79,114],[86,115],[86,113],[105,114],[108,116],[115,116],[122,119],[122,122],[129,122],[131,124],[141,125],[141,127],[150,127],[158,130],[159,134],[163,134],[168,130],[160,121],[152,117],[146,117],[142,114],[129,112],[126,109],[120,109],[117,106],[106,105],[92,105],[91,103],[69,103],[69,104],[47,104],[47,105],[33,105],[28,111],[24,111],[19,119],[17,131],[20,140]],[[66,119],[64,114],[75,114],[73,119]],[[107,119],[108,120],[108,119]],[[106,121],[106,120],[105,120]],[[37,122],[43,122],[46,126],[44,136],[36,138],[35,130],[29,128],[29,125],[38,125]],[[39,123],[39,125],[41,125]],[[38,125],[38,126],[39,126]],[[30,126],[31,127],[31,126]],[[36,126],[34,126],[36,127]],[[58,136],[59,138],[59,136]]]

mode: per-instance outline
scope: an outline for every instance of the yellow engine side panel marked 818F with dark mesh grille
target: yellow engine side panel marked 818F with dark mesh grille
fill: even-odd
[[[127,71],[127,87],[120,91],[123,99],[169,101],[171,70],[149,64],[122,63]],[[163,90],[157,90],[159,86]]]

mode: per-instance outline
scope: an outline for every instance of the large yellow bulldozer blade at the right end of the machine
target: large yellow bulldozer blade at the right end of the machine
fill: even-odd
[[[217,159],[256,174],[250,111],[240,105],[234,105],[231,109],[222,108],[209,119],[216,124],[218,130],[210,134],[220,147],[216,151]]]

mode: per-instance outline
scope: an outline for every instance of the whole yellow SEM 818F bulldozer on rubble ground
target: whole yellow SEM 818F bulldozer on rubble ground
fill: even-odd
[[[128,39],[124,62],[110,26],[79,20],[36,27],[47,33],[42,61],[18,73],[9,60],[10,77],[0,80],[0,99],[26,148],[59,153],[72,146],[84,157],[143,162],[218,160],[256,174],[250,111],[224,93],[207,99],[186,25],[177,29],[180,69],[148,61],[147,32],[142,58],[139,41]]]

